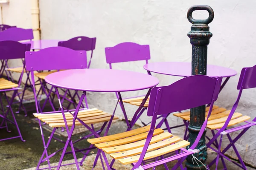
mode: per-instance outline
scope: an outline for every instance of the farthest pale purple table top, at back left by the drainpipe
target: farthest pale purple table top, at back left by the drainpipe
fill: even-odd
[[[31,44],[32,50],[41,50],[48,47],[57,47],[58,42],[62,40],[32,40],[32,41],[26,41],[22,42],[23,44]]]

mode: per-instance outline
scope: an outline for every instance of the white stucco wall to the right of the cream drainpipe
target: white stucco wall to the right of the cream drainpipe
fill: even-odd
[[[187,33],[192,24],[187,20],[186,13],[190,6],[196,4],[207,4],[215,12],[213,22],[209,24],[213,37],[208,47],[208,63],[238,71],[238,75],[227,83],[217,102],[230,109],[238,94],[236,85],[241,68],[256,64],[254,0],[40,0],[41,38],[65,40],[79,35],[97,37],[91,68],[108,68],[104,48],[127,41],[149,44],[149,62],[190,62],[191,45]],[[195,18],[206,16],[198,12]],[[144,64],[127,62],[114,64],[113,68],[146,73]],[[180,79],[153,75],[160,79],[160,85],[169,85]],[[255,89],[245,90],[237,111],[256,116],[255,93]],[[137,94],[145,94],[145,91],[124,93],[123,97]],[[88,93],[91,107],[108,112],[114,109],[114,99],[113,93]],[[125,107],[131,118],[137,107]],[[116,114],[122,117],[119,107]],[[143,119],[150,120],[145,114]],[[182,123],[174,116],[170,116],[169,122],[173,125]],[[255,130],[255,127],[251,128],[237,145],[244,160],[254,166]],[[183,129],[173,130],[173,133],[182,136]]]

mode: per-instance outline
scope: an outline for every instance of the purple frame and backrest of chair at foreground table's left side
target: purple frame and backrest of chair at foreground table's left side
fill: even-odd
[[[72,56],[72,57],[70,57],[70,56]],[[86,63],[87,63],[87,61],[86,61],[86,52],[85,51],[74,51],[70,48],[65,48],[65,47],[50,47],[50,48],[45,48],[45,49],[43,49],[41,51],[37,51],[37,52],[26,52],[25,57],[26,57],[26,59],[25,59],[26,60],[26,69],[28,71],[31,71],[32,86],[33,86],[33,93],[34,93],[34,97],[35,97],[35,106],[36,106],[37,113],[41,113],[41,114],[57,113],[57,112],[59,113],[59,111],[44,112],[44,113],[39,111],[40,107],[38,105],[38,99],[37,99],[38,94],[35,91],[34,71],[37,71],[37,70],[52,70],[52,69],[60,70],[60,69],[83,69],[83,68],[86,68],[87,67],[87,65],[86,65]],[[51,61],[51,62],[49,62],[49,61]],[[55,65],[55,63],[58,63],[58,65]],[[68,111],[71,115],[76,117],[77,114],[78,114],[78,111],[81,107],[81,103],[82,103],[82,101],[85,97],[85,93],[82,94],[76,110],[73,110],[73,111],[75,111],[75,113],[73,114],[73,113],[70,112],[71,110],[69,111],[67,108],[64,108],[64,106],[62,106],[61,97],[58,93],[58,89],[55,88],[55,91],[56,91],[56,94],[58,96],[58,100],[59,100],[59,103],[60,103],[60,108],[61,108],[61,112],[62,112],[63,116],[64,116],[64,111]],[[76,118],[76,119],[78,119],[78,118]],[[78,120],[81,121],[80,119],[78,119]],[[75,121],[75,119],[74,119],[74,121]],[[53,136],[54,132],[56,130],[56,128],[54,128],[51,135],[50,135],[50,138],[49,138],[48,142],[46,143],[46,141],[44,139],[44,133],[43,133],[43,129],[42,129],[41,120],[39,120],[39,127],[40,127],[40,131],[41,131],[41,137],[42,137],[43,145],[44,145],[44,152],[43,152],[41,158],[39,159],[37,170],[39,169],[40,165],[44,161],[47,161],[48,166],[49,166],[47,168],[49,168],[51,170],[51,168],[53,168],[53,167],[50,166],[49,159],[52,156],[54,156],[57,152],[60,152],[61,150],[63,150],[63,153],[61,155],[62,159],[64,158],[65,154],[72,153],[73,156],[74,156],[74,159],[76,160],[76,152],[83,153],[84,154],[84,159],[85,159],[85,157],[88,155],[90,150],[94,149],[95,147],[91,146],[89,148],[79,149],[79,148],[74,147],[73,144],[76,143],[76,142],[79,142],[83,139],[87,139],[88,137],[93,136],[93,135],[94,136],[99,136],[100,133],[102,133],[104,127],[107,124],[107,122],[105,122],[102,125],[100,130],[95,131],[94,128],[93,128],[93,125],[92,125],[92,127],[89,127],[88,125],[85,125],[84,123],[82,123],[85,127],[87,127],[91,131],[91,134],[89,134],[87,136],[84,136],[83,138],[81,138],[77,141],[72,142],[71,136],[72,136],[72,133],[73,133],[73,130],[74,130],[75,126],[71,127],[71,130],[69,130],[69,128],[67,126],[67,121],[65,119],[65,116],[64,116],[64,122],[65,122],[65,127],[66,127],[66,130],[67,130],[67,134],[68,134],[68,138],[67,138],[67,142],[65,144],[65,147],[57,150],[55,153],[52,153],[52,154],[48,155],[47,148],[49,147],[49,144],[50,144],[51,140],[56,139],[59,142],[62,142],[62,141]],[[62,142],[62,143],[65,143],[65,142]],[[71,147],[72,152],[66,152],[66,149],[67,149],[68,146]],[[86,151],[86,153],[84,153],[83,151]],[[45,156],[45,158],[44,158],[44,156]],[[77,160],[76,160],[75,164],[76,164],[77,167],[79,167],[78,163],[82,164],[82,161],[77,162]],[[65,164],[65,165],[68,165],[68,164]],[[64,165],[61,165],[61,161],[60,161],[60,165],[57,167],[57,169],[59,169],[60,166],[64,166]]]

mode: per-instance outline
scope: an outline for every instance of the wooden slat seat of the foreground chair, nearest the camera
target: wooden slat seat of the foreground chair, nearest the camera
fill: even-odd
[[[87,141],[110,154],[113,159],[118,159],[122,164],[131,164],[139,160],[149,130],[150,125]],[[162,156],[188,145],[189,142],[172,136],[169,132],[155,129],[144,160]]]

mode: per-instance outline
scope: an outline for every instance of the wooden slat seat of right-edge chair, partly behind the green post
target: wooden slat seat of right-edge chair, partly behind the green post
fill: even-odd
[[[205,116],[208,115],[209,107],[206,108]],[[227,118],[230,114],[230,110],[227,111],[225,108],[219,108],[218,106],[213,106],[211,116],[208,119],[207,128],[214,130],[220,129],[223,127]],[[190,119],[190,111],[182,112],[182,113],[174,113],[174,116],[180,117],[181,119],[189,121]],[[233,126],[244,121],[250,119],[250,116],[243,116],[241,113],[234,113],[228,126]]]

